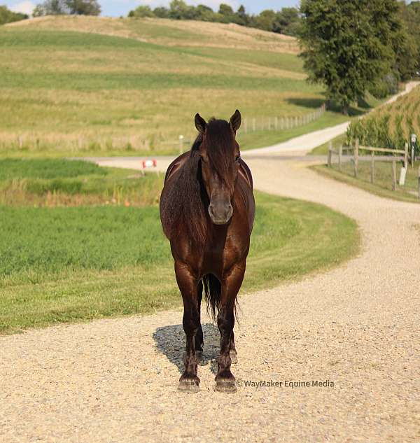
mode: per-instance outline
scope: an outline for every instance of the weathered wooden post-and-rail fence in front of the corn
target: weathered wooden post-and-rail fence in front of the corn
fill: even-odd
[[[375,162],[391,162],[392,163],[392,190],[395,191],[397,188],[397,162],[403,162],[405,171],[407,171],[408,165],[408,143],[405,143],[405,150],[401,149],[385,149],[385,148],[372,148],[371,146],[360,146],[358,139],[356,139],[354,146],[339,146],[338,150],[332,149],[332,142],[330,141],[330,146],[328,148],[328,167],[332,166],[332,155],[338,155],[338,168],[342,171],[342,159],[343,152],[353,153],[350,155],[350,160],[353,162],[354,167],[354,177],[358,176],[358,161],[360,157],[360,151],[366,151],[370,153],[370,183],[374,183],[374,164]],[[375,153],[381,154],[394,154],[388,155],[386,157],[381,156],[380,158],[375,157]],[[400,156],[395,156],[395,154],[400,154]],[[405,180],[405,176],[404,176]],[[403,184],[403,183],[400,183]],[[420,186],[420,178],[419,178]],[[420,199],[420,190],[419,190]]]

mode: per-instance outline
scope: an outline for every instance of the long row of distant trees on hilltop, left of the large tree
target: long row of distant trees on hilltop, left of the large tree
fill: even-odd
[[[129,17],[158,17],[173,20],[202,20],[204,22],[236,23],[241,26],[254,27],[289,36],[297,36],[300,32],[302,17],[298,8],[282,8],[274,11],[263,10],[258,15],[246,13],[243,5],[235,11],[232,6],[221,3],[217,12],[209,6],[190,6],[183,0],[172,0],[169,8],[160,6],[139,6],[130,10]]]

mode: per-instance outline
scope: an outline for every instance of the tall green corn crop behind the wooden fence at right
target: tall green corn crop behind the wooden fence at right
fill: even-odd
[[[352,122],[348,139],[360,139],[365,146],[404,149],[410,134],[420,137],[420,87],[381,106],[367,117]]]

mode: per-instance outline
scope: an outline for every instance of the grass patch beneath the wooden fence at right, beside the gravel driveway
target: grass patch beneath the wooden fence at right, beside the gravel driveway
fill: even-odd
[[[402,200],[403,202],[419,201],[418,169],[420,164],[416,164],[414,169],[411,167],[407,169],[405,185],[400,186],[398,185],[398,179],[400,178],[402,164],[397,163],[397,188],[395,191],[392,190],[391,162],[375,162],[374,184],[370,183],[370,162],[359,161],[358,178],[354,177],[352,162],[343,163],[342,172],[338,170],[337,164],[332,166],[332,168],[328,168],[325,165],[320,165],[312,168],[324,176],[372,192],[372,194],[379,195],[379,197]]]

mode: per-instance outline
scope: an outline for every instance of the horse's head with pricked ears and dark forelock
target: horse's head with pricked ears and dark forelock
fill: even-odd
[[[210,199],[209,215],[215,225],[225,225],[232,217],[232,201],[241,158],[235,136],[240,126],[241,113],[238,110],[230,122],[210,120],[207,123],[200,114],[195,115],[195,127],[202,134],[202,178]]]

